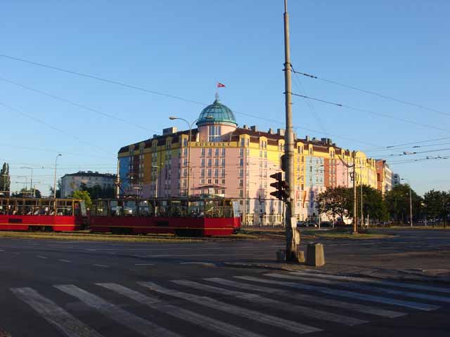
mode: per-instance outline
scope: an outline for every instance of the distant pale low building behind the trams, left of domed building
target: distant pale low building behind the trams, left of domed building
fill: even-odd
[[[93,171],[79,171],[65,174],[61,178],[61,197],[69,197],[74,191],[80,190],[81,185],[94,187],[99,185],[102,189],[115,188],[117,176],[110,173],[98,173]]]

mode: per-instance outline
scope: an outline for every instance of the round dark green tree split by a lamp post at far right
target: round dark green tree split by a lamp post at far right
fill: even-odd
[[[399,184],[385,193],[385,205],[390,218],[396,223],[405,223],[409,219],[409,189],[408,184]],[[413,204],[413,220],[417,220],[422,213],[423,199],[411,190]]]

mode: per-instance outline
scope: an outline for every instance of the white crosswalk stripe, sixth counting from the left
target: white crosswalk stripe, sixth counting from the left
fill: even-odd
[[[329,307],[349,309],[358,312],[364,312],[365,314],[377,315],[381,317],[400,317],[406,315],[404,312],[398,312],[393,310],[384,310],[376,307],[371,307],[369,305],[357,304],[357,303],[349,303],[342,302],[340,300],[331,300],[329,298],[319,297],[319,296],[311,296],[305,295],[302,293],[294,293],[293,291],[285,291],[282,289],[269,288],[267,286],[257,286],[256,284],[248,284],[242,282],[231,281],[229,279],[221,279],[219,277],[211,277],[205,279],[210,282],[217,282],[219,284],[224,284],[226,286],[234,286],[239,289],[252,291],[261,291],[264,293],[276,293],[277,295],[284,296],[286,298],[295,298],[296,300],[307,301],[311,303],[316,303],[319,305],[328,305]]]

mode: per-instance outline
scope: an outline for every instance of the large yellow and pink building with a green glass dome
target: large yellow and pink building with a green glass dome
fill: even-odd
[[[259,131],[238,124],[217,99],[205,107],[189,131],[165,129],[162,136],[124,146],[118,153],[119,194],[180,197],[215,194],[239,199],[247,225],[283,222],[283,201],[271,197],[271,174],[281,171],[284,130]],[[168,131],[169,130],[169,131]],[[191,153],[191,160],[188,154]],[[375,159],[356,151],[356,183],[376,188]],[[295,140],[297,218],[317,216],[316,197],[328,187],[352,186],[353,155],[329,138]],[[189,180],[189,181],[188,181]]]

